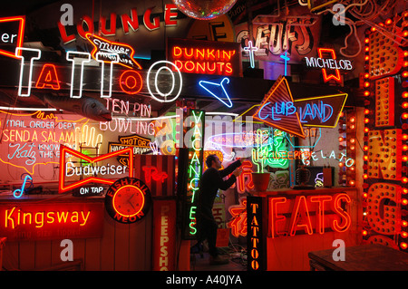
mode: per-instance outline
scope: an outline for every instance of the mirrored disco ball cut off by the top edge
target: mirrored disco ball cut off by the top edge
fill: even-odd
[[[191,18],[211,20],[226,14],[237,0],[173,0],[177,8]]]

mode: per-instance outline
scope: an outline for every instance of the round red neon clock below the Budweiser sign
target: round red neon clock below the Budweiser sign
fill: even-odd
[[[117,222],[137,222],[150,207],[151,191],[139,178],[120,178],[106,192],[106,211]]]

